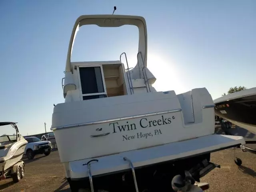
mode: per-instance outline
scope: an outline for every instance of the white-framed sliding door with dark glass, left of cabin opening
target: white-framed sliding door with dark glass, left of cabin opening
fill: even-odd
[[[83,100],[106,97],[101,66],[79,67],[79,74]]]

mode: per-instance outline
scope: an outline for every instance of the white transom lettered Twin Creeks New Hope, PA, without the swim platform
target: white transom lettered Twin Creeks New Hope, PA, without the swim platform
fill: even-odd
[[[192,90],[191,94],[193,109],[186,107],[182,103],[186,100],[174,91],[56,105],[52,130],[60,161],[106,156],[213,134],[214,105],[210,94],[205,88]],[[187,121],[189,113],[194,123]],[[76,148],[80,148],[79,152]]]

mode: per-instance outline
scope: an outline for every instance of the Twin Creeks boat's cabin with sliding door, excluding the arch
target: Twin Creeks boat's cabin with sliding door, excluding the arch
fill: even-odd
[[[64,84],[62,82],[66,102],[123,96],[150,92],[154,89],[151,86],[152,78],[155,81],[152,75],[148,83],[145,82],[145,78],[133,78],[136,76],[134,75],[136,68],[125,69],[120,61],[71,62],[71,64],[74,68],[73,74],[66,72],[63,78]]]

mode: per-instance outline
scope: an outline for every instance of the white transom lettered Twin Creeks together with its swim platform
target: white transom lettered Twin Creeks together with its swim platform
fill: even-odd
[[[127,169],[125,156],[142,167],[244,144],[214,134],[213,106],[205,88],[58,104],[52,130],[66,177],[87,177],[92,159],[92,175],[104,175]]]

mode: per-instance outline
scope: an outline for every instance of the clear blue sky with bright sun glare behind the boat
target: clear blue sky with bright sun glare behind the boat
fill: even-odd
[[[213,99],[232,86],[256,86],[255,0],[0,0],[0,121],[23,135],[50,131],[74,22],[84,14],[146,19],[148,68],[157,91],[205,87]],[[119,60],[136,65],[134,26],[83,26],[72,61]]]

